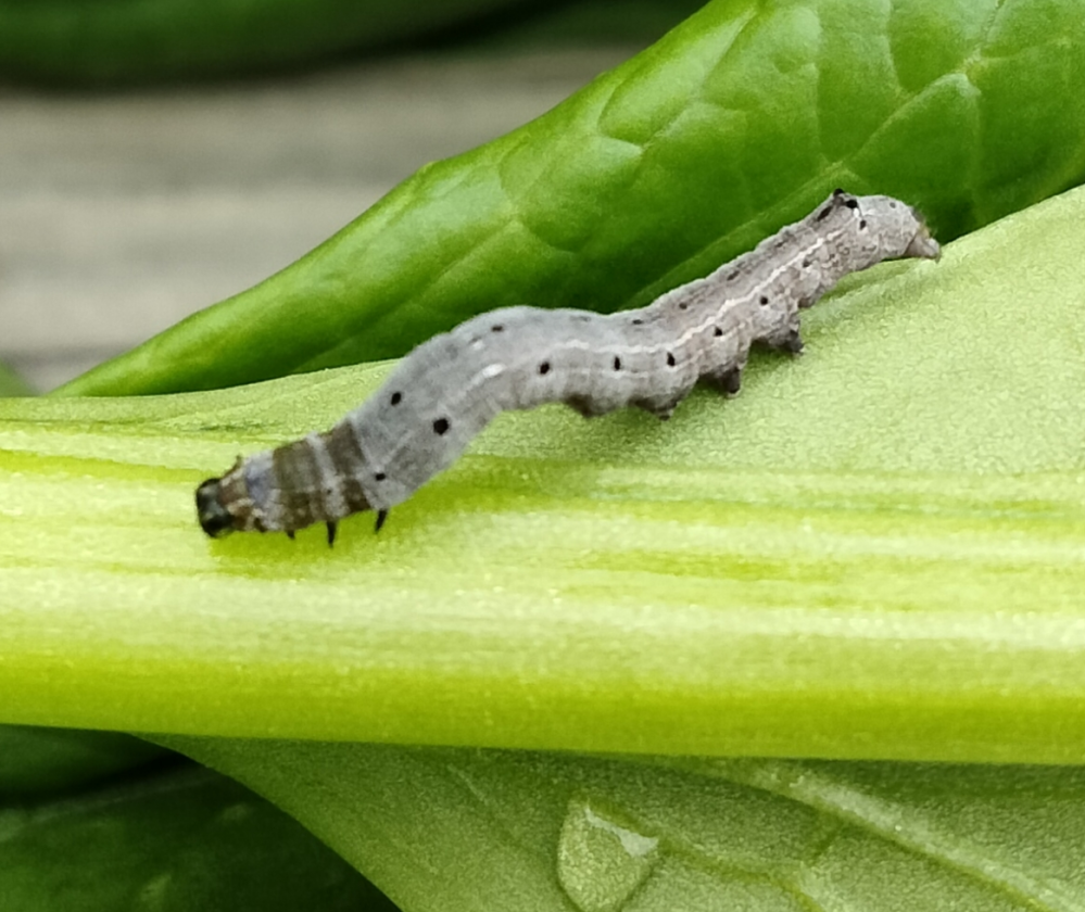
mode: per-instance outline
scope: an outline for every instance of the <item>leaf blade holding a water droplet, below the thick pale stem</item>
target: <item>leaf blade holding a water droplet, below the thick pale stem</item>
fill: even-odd
[[[407,912],[1085,904],[1085,770],[166,742]]]

